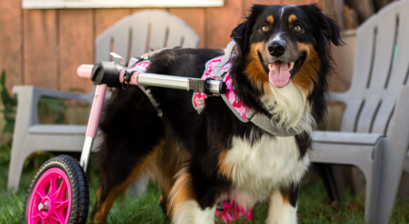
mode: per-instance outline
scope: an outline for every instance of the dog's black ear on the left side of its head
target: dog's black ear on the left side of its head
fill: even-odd
[[[238,24],[232,31],[230,38],[236,41],[239,56],[243,56],[248,49],[249,39],[257,15],[261,14],[266,5],[253,4],[250,9],[250,15],[245,17],[245,21]]]

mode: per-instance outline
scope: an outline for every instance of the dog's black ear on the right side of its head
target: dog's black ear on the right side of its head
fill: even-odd
[[[316,4],[310,4],[309,6],[313,8],[315,18],[321,28],[320,30],[322,34],[328,40],[331,40],[335,46],[343,45],[344,41],[341,39],[341,33],[344,32],[343,29],[334,21],[334,19],[326,16]]]

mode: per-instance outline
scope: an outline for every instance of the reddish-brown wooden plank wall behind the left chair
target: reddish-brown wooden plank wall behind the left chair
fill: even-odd
[[[160,8],[182,18],[200,36],[200,47],[219,48],[252,3],[304,4],[321,0],[224,0],[223,7]],[[93,41],[120,18],[144,8],[22,9],[20,0],[0,0],[0,69],[6,87],[35,85],[90,90],[75,75],[94,62]]]

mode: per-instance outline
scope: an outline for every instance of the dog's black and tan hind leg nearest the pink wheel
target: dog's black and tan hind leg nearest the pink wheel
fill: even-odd
[[[91,219],[105,222],[116,197],[156,160],[164,124],[145,94],[138,87],[129,87],[113,92],[100,128],[104,135],[97,152],[101,186]]]

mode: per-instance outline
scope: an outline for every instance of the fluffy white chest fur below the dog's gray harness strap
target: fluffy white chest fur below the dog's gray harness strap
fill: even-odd
[[[224,163],[232,171],[234,195],[230,197],[251,206],[265,200],[272,189],[298,183],[310,161],[308,155],[300,158],[295,137],[265,134],[253,145],[233,137]]]

